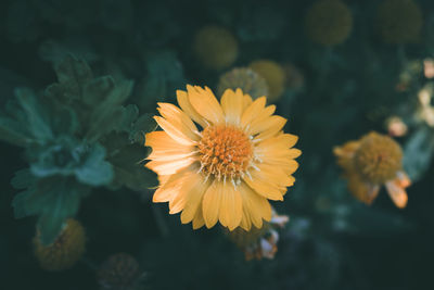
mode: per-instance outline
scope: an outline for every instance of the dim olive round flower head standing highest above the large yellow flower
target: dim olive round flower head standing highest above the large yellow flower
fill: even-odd
[[[238,41],[227,29],[218,26],[201,28],[194,39],[194,51],[208,68],[230,66],[238,56]]]

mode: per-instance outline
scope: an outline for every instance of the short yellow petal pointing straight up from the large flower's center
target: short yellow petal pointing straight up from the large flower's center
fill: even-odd
[[[221,96],[221,108],[224,109],[225,118],[228,124],[240,124],[241,114],[243,112],[243,99],[244,96],[241,89],[237,89],[237,92],[227,89],[224,96]]]

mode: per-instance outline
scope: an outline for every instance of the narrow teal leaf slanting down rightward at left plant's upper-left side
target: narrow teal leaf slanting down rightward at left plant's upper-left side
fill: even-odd
[[[26,114],[27,126],[33,136],[42,143],[52,140],[53,133],[50,128],[48,115],[37,102],[34,92],[26,88],[17,88],[15,94]]]

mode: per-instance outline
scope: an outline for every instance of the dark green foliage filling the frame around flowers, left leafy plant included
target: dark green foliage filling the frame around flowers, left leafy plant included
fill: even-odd
[[[395,21],[391,10],[379,20],[390,1],[340,0],[353,21],[345,41],[332,47],[306,35],[317,0],[1,1],[4,289],[98,289],[97,265],[118,252],[137,260],[149,289],[433,288],[433,79],[424,61],[434,58],[434,4],[405,1],[423,14],[422,24],[406,26],[417,41],[394,45],[378,33]],[[224,70],[206,67],[194,49],[209,25],[230,35]],[[275,260],[245,262],[218,228],[192,231],[166,205],[151,204],[156,178],[141,161],[156,102],[174,102],[186,84],[217,91],[224,73],[255,60],[283,68],[277,113],[301,137],[303,155],[295,186],[276,204],[290,222]],[[303,86],[290,85],[289,64]],[[408,126],[396,138],[413,182],[403,211],[386,194],[372,206],[353,199],[332,155],[336,144],[387,131],[391,116]],[[88,236],[85,259],[67,272],[41,270],[35,223],[50,243],[74,216]]]

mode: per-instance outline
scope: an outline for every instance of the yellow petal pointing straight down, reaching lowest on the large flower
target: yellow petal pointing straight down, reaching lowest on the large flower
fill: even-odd
[[[222,226],[233,230],[240,225],[243,216],[240,191],[230,182],[224,184],[222,188],[219,220]]]

